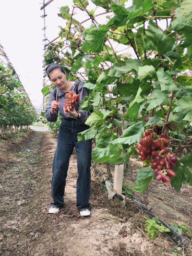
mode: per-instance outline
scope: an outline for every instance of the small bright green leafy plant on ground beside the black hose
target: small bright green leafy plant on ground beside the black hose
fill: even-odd
[[[158,220],[158,217],[154,217],[152,219],[148,219],[144,216],[146,219],[144,221],[144,229],[148,236],[148,238],[152,238],[152,240],[156,240],[156,238],[159,235],[159,232],[169,232],[170,230],[168,228],[165,228],[163,224]]]

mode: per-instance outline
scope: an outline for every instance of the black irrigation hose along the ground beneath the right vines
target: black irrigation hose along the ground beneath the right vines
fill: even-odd
[[[100,175],[104,175],[104,173],[100,170],[98,170],[95,166],[93,166],[94,170],[97,171]],[[116,194],[118,197],[120,197],[121,199],[124,199],[123,196]],[[150,219],[157,217],[154,213],[152,213],[151,211],[148,210],[148,208],[143,207],[144,203],[143,201],[137,199],[136,197],[133,197],[135,204],[139,207],[142,208],[146,214],[149,216]],[[158,218],[158,217],[157,217]],[[184,237],[182,237],[178,232],[176,232],[174,229],[172,229],[168,224],[166,224],[163,220],[159,219],[158,220],[163,224],[164,227],[168,228],[170,230],[170,232],[165,232],[175,243],[177,244],[181,244],[181,246],[183,245],[184,247],[188,247],[189,244],[186,241],[186,239]],[[181,247],[180,246],[180,247]]]

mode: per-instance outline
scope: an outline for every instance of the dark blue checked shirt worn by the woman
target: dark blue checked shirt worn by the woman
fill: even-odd
[[[75,83],[74,83],[74,85],[72,85],[70,91],[74,90],[75,85],[77,83],[78,83],[78,81],[75,81]],[[84,98],[84,96],[87,96],[87,91],[83,86],[84,86],[84,84],[82,82],[80,82],[79,85],[78,85],[78,93],[80,94],[80,100],[76,103],[75,110],[77,111],[77,113],[81,114],[81,117],[77,120],[79,120],[82,123],[85,123],[88,116],[90,115],[90,112],[87,112],[85,110],[78,110],[80,105],[82,104],[82,99]],[[59,97],[60,105],[59,105],[57,111],[55,112],[55,115],[51,116],[51,114],[50,114],[51,103],[52,103],[53,100],[55,100],[53,93],[54,93],[54,89],[50,92],[49,103],[48,103],[48,106],[46,107],[46,110],[45,110],[45,116],[46,116],[47,120],[49,122],[56,122],[57,118],[58,118],[58,110],[60,110],[60,115],[62,116],[61,120],[75,119],[72,116],[70,116],[68,114],[65,114],[64,111],[63,111],[63,105],[64,105],[64,101],[65,101],[65,98],[66,98],[65,97],[66,92],[61,91],[60,88],[57,88],[57,94],[56,94],[56,96]]]

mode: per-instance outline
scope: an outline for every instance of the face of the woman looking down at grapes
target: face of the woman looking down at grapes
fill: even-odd
[[[49,73],[50,81],[53,85],[60,88],[61,90],[65,89],[66,86],[66,74],[62,73],[60,69],[55,69]]]

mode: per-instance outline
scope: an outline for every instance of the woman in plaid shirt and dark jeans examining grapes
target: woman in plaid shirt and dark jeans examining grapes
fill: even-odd
[[[58,118],[58,110],[60,110],[61,124],[57,138],[57,148],[53,159],[53,176],[51,182],[51,195],[53,201],[50,203],[49,213],[57,213],[63,207],[64,192],[69,160],[75,147],[77,154],[77,201],[76,206],[80,211],[81,216],[90,215],[89,197],[91,190],[91,148],[92,141],[84,140],[80,143],[77,141],[77,134],[88,129],[89,126],[84,124],[88,118],[89,112],[79,110],[82,98],[87,95],[83,83],[77,81],[67,81],[66,73],[62,66],[58,63],[52,63],[47,66],[46,73],[51,83],[57,87],[57,102],[54,98],[54,90],[50,92],[49,104],[46,108],[45,116],[49,122],[56,122]],[[65,95],[69,90],[73,91],[75,85],[78,84],[78,93],[80,101],[76,103],[71,111],[69,107],[68,113],[63,108]]]

